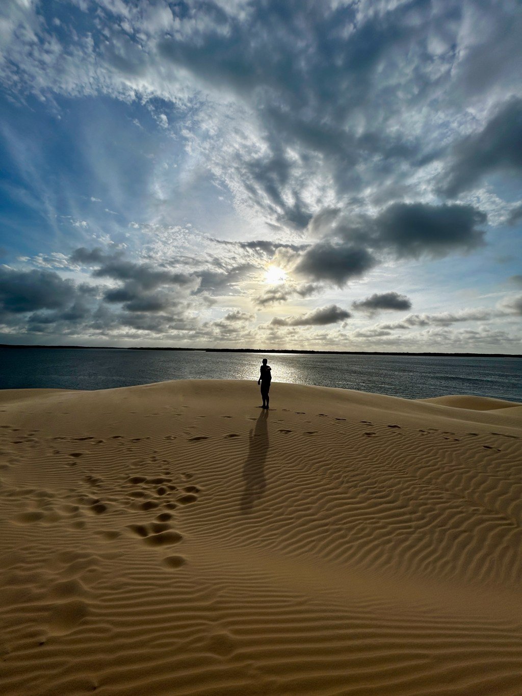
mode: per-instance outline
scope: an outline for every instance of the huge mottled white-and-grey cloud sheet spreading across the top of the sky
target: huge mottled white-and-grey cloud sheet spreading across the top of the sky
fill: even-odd
[[[145,103],[238,207],[293,229],[354,196],[365,209],[375,196],[429,198],[445,143],[518,91],[510,0],[80,4],[81,22],[65,6],[56,26],[43,2],[3,8],[0,74],[13,97]],[[454,166],[470,167],[470,143],[482,168],[516,157],[493,136],[485,127],[456,145]]]

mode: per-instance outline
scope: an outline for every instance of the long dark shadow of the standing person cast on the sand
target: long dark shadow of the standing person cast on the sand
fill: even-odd
[[[248,437],[248,454],[243,466],[243,478],[245,487],[239,509],[243,514],[250,514],[255,503],[262,498],[267,488],[264,477],[264,463],[267,461],[269,448],[268,439],[268,414],[270,411],[261,411],[255,427]]]

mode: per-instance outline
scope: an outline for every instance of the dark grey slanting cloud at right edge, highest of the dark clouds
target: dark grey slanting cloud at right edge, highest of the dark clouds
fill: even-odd
[[[454,198],[493,172],[522,175],[522,100],[512,99],[476,134],[454,146],[442,189]]]

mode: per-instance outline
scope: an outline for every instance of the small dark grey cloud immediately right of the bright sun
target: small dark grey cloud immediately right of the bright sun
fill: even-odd
[[[305,251],[294,270],[306,278],[326,280],[342,287],[347,280],[359,278],[375,264],[377,260],[365,248],[326,241]]]

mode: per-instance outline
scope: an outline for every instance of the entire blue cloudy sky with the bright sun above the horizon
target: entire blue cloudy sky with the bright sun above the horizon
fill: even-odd
[[[3,0],[0,342],[522,353],[519,0]]]

